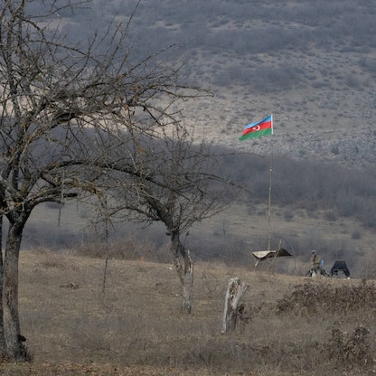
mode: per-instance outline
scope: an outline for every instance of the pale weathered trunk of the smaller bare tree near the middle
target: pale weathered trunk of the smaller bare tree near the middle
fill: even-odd
[[[193,261],[189,249],[185,248],[180,241],[179,232],[173,233],[171,241],[171,250],[174,254],[174,267],[183,287],[181,312],[184,314],[191,314],[193,296]],[[183,265],[180,258],[183,258]]]

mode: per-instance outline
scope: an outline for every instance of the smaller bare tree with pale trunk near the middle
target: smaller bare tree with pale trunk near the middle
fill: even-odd
[[[220,155],[204,141],[195,143],[181,122],[154,136],[131,137],[111,152],[118,153],[118,158],[111,155],[110,159],[119,162],[111,165],[108,176],[108,192],[113,195],[108,201],[110,212],[123,220],[164,223],[183,288],[181,311],[191,313],[193,259],[181,236],[230,203],[230,180],[215,174]]]

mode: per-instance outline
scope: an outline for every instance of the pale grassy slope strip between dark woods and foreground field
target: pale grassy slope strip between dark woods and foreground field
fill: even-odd
[[[243,203],[244,202],[244,203]],[[279,273],[304,276],[312,249],[324,258],[330,271],[337,259],[344,259],[353,277],[374,278],[376,259],[373,255],[374,228],[367,228],[352,216],[342,217],[336,211],[323,208],[308,210],[298,205],[272,206],[271,248],[279,245],[294,258],[281,259],[258,268]],[[103,226],[90,226],[90,208],[67,203],[58,208],[36,208],[26,226],[23,249],[73,249],[84,255],[119,259],[145,258],[147,261],[169,262],[169,238],[161,224],[140,229],[125,222],[110,229],[108,246],[101,238]],[[183,243],[193,254],[193,262],[218,261],[228,267],[254,268],[251,252],[268,249],[268,203],[254,203],[244,198],[210,220],[197,223],[183,235]]]

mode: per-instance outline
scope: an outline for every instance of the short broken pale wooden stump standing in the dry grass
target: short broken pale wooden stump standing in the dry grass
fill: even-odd
[[[240,282],[240,278],[230,278],[224,302],[222,334],[235,330],[238,317],[238,305],[247,287],[244,282]]]

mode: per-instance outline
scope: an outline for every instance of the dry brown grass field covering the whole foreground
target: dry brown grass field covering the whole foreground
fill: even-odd
[[[181,315],[169,264],[23,252],[22,334],[33,362],[2,375],[368,375],[376,371],[373,281],[195,266]],[[230,277],[249,285],[247,320],[221,334]]]

